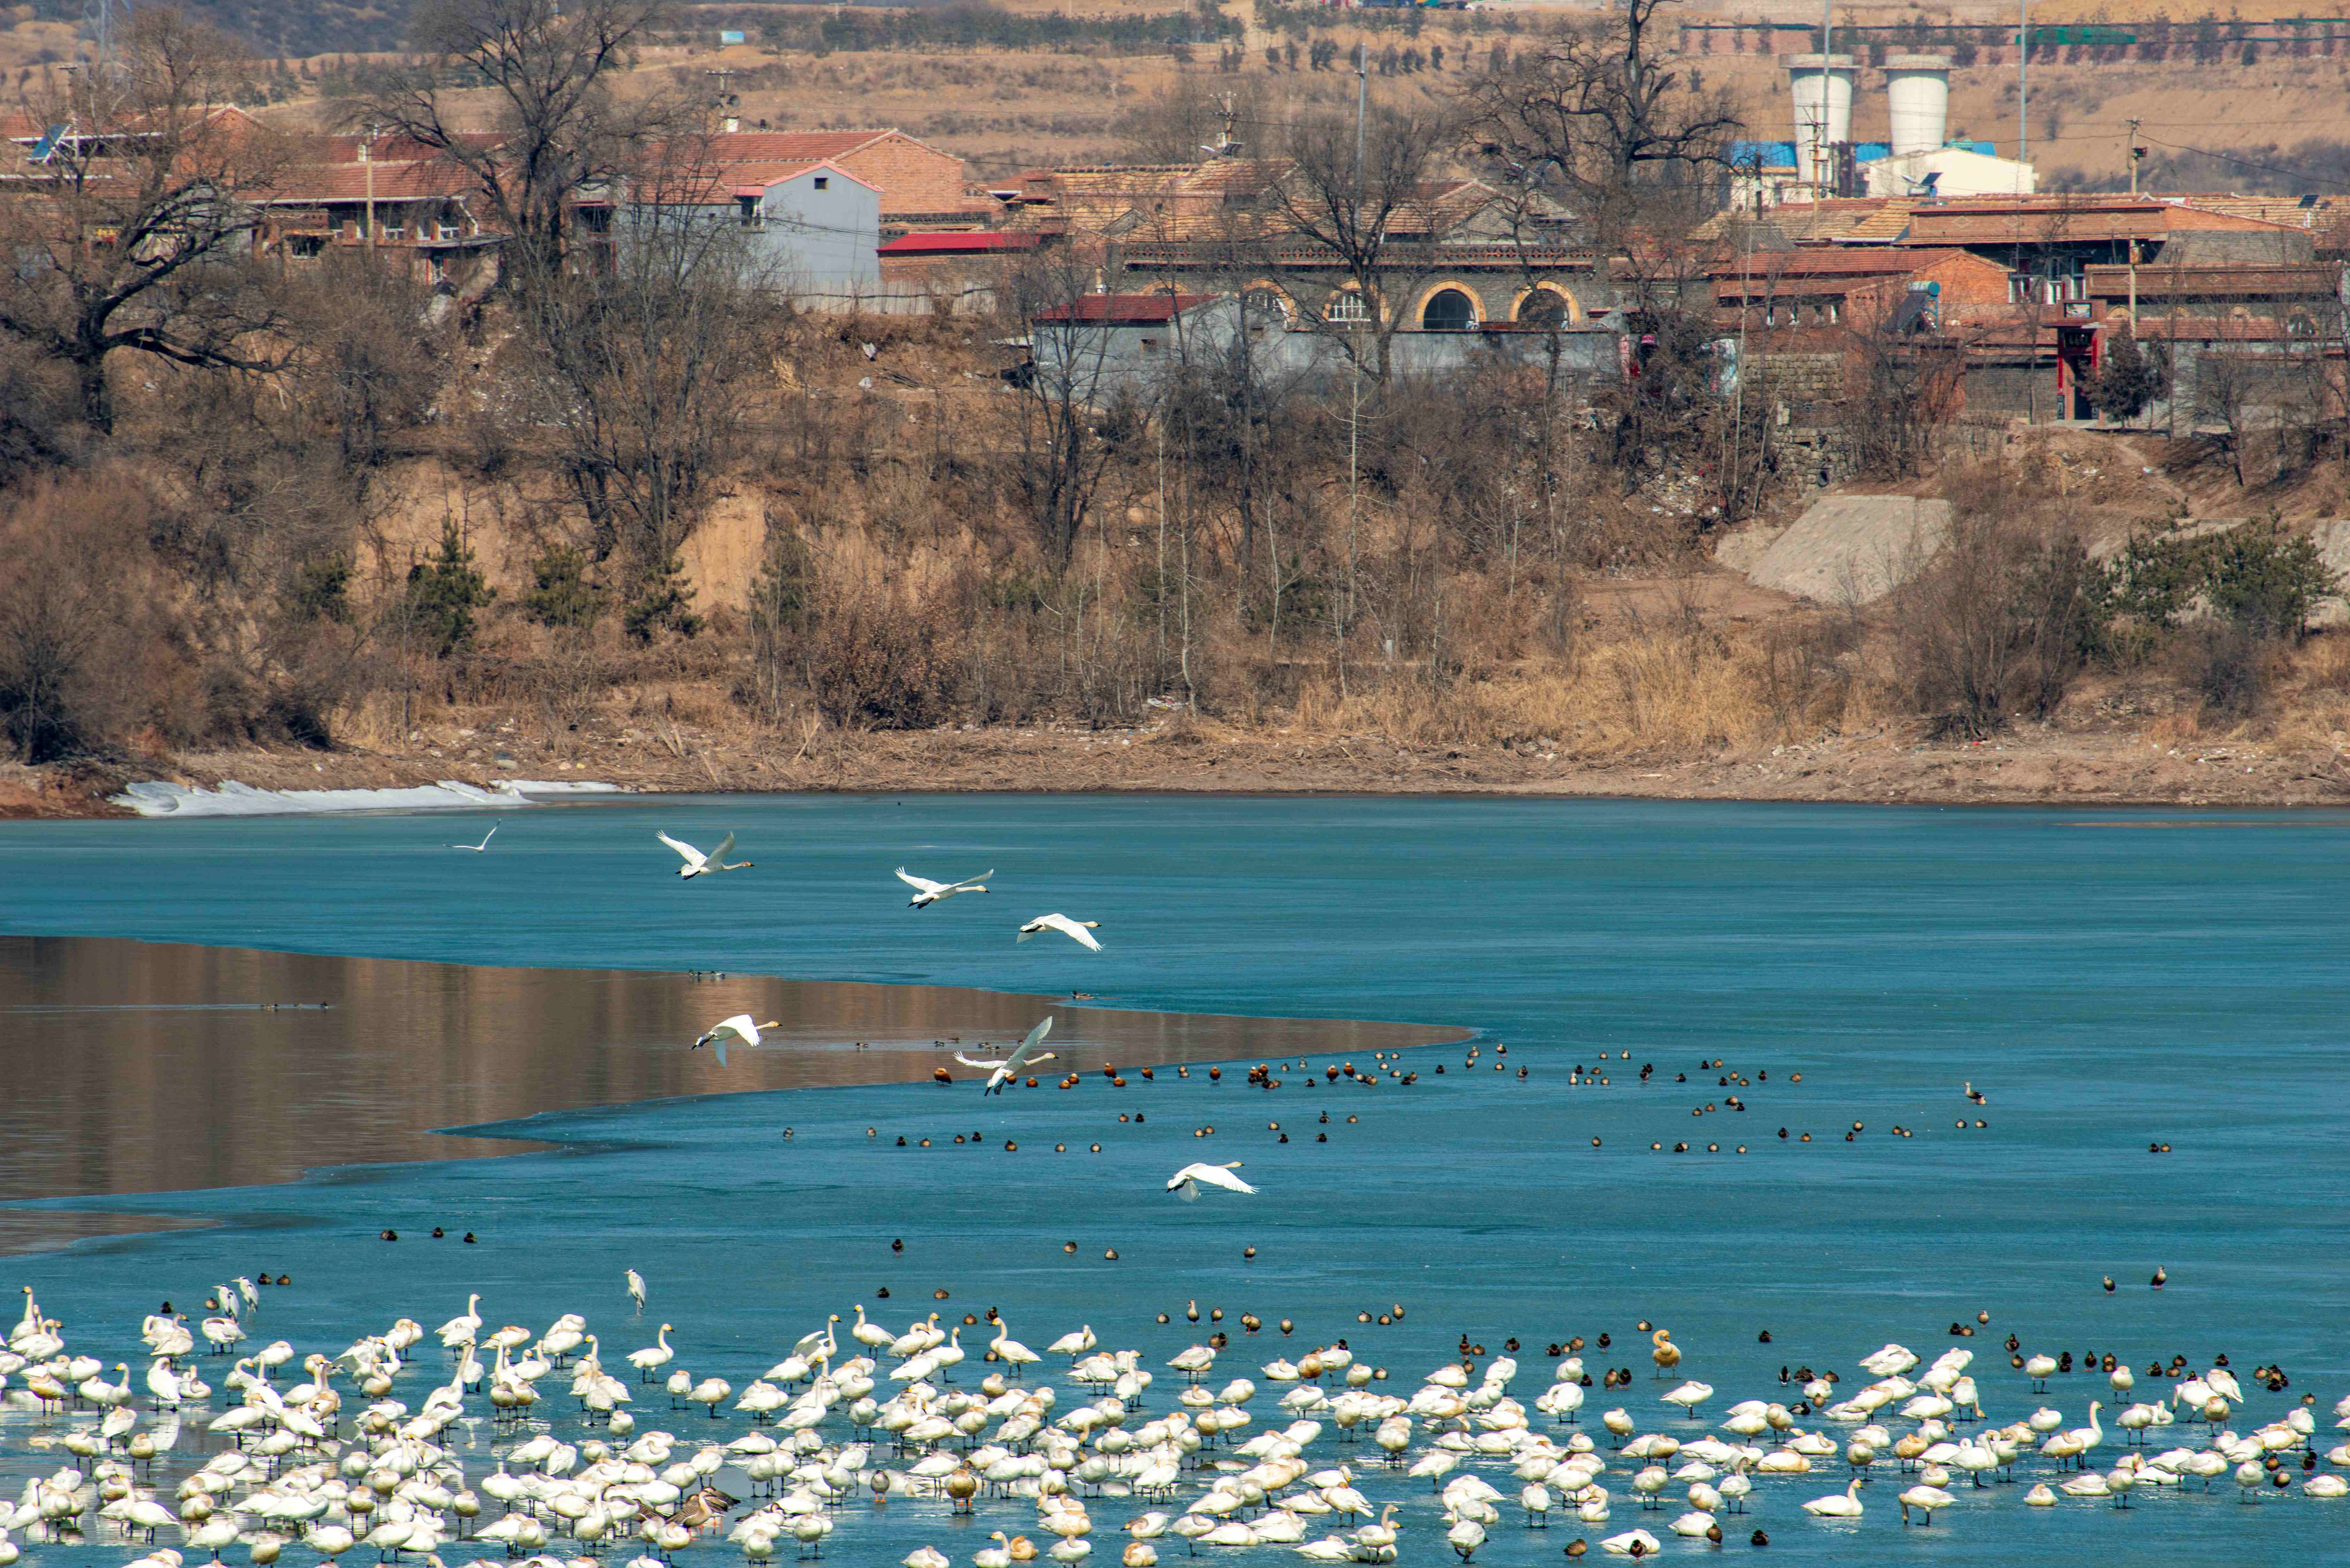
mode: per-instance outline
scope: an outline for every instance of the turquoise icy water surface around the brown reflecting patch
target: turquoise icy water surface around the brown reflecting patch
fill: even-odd
[[[92,1354],[110,1363],[134,1345],[150,1298],[193,1300],[235,1272],[296,1276],[268,1300],[261,1328],[303,1352],[341,1349],[395,1314],[432,1326],[479,1288],[494,1324],[536,1331],[564,1309],[588,1314],[606,1361],[649,1342],[656,1321],[677,1324],[679,1361],[736,1387],[853,1302],[891,1324],[994,1305],[1039,1349],[1090,1321],[1104,1347],[1140,1347],[1159,1366],[1198,1335],[1182,1316],[1166,1328],[1154,1316],[1196,1298],[1227,1309],[1224,1328],[1241,1312],[1297,1324],[1288,1342],[1271,1328],[1255,1340],[1234,1331],[1220,1373],[1347,1335],[1396,1371],[1398,1394],[1452,1359],[1459,1335],[1495,1354],[1518,1335],[1520,1399],[1549,1382],[1546,1342],[1605,1331],[1612,1349],[1586,1361],[1633,1366],[1636,1378],[1612,1394],[1591,1389],[1586,1415],[1622,1403],[1643,1429],[1685,1436],[1697,1427],[1657,1403],[1671,1385],[1650,1378],[1640,1319],[1673,1331],[1687,1354],[1680,1371],[1720,1389],[1720,1413],[1746,1396],[1791,1396],[1781,1363],[1833,1366],[1859,1387],[1854,1361],[1885,1340],[1932,1359],[1958,1342],[1953,1321],[1988,1312],[1990,1326],[1965,1347],[1995,1420],[2044,1401],[2077,1425],[2087,1401],[2103,1399],[2110,1429],[2117,1403],[2103,1378],[2082,1373],[2030,1394],[2000,1347],[2016,1333],[2026,1349],[2127,1359],[2141,1373],[2136,1396],[2160,1387],[2143,1378],[2148,1361],[2174,1352],[2195,1368],[2225,1352],[2240,1375],[2275,1361],[2291,1389],[2254,1392],[2232,1425],[2247,1432],[2315,1392],[2319,1450],[2341,1436],[2331,1406],[2350,1392],[2350,1088],[2338,1072],[2350,950],[2338,867],[2350,818],[2336,813],[663,799],[508,816],[491,856],[437,849],[477,837],[463,827],[5,825],[0,929],[1083,987],[1144,1009],[1459,1023],[1480,1030],[1480,1058],[1464,1070],[1462,1048],[1431,1048],[1415,1063],[1417,1086],[1375,1091],[1304,1091],[1290,1070],[1264,1093],[1236,1072],[1208,1084],[1194,1070],[1123,1091],[1095,1074],[1069,1093],[985,1103],[975,1091],[893,1086],[543,1117],[529,1133],[557,1152],[118,1204],[235,1225],[14,1258],[0,1269],[9,1293],[33,1284],[68,1340],[96,1342]],[[653,827],[700,844],[733,830],[759,867],[682,884]],[[933,877],[999,875],[985,898],[916,914],[888,877],[898,863]],[[1013,926],[1048,910],[1100,919],[1107,950],[1058,938],[1015,947]],[[1570,1084],[1603,1051],[1612,1081]],[[1697,1070],[1711,1058],[1770,1079],[1723,1088]],[[1492,1072],[1497,1060],[1509,1072]],[[1657,1065],[1645,1086],[1643,1063]],[[1967,1105],[1967,1079],[1988,1105]],[[1730,1093],[1748,1110],[1727,1110]],[[1723,1110],[1692,1117],[1704,1103]],[[1119,1121],[1135,1110],[1147,1124]],[[1330,1126],[1316,1119],[1323,1110]],[[1988,1126],[1958,1131],[1962,1112]],[[1213,1138],[1191,1135],[1210,1121]],[[1292,1143],[1278,1145],[1267,1121]],[[1864,1131],[1845,1143],[1854,1121]],[[1896,1124],[1915,1135],[1894,1135]],[[973,1131],[978,1147],[949,1143]],[[1805,1131],[1810,1145],[1795,1138]],[[933,1147],[898,1150],[900,1133]],[[155,1135],[204,1128],[162,1124]],[[1697,1152],[1650,1152],[1678,1140]],[[1050,1154],[1053,1143],[1072,1152]],[[1100,1154],[1086,1152],[1093,1143]],[[1723,1152],[1706,1154],[1706,1143]],[[1734,1154],[1739,1143],[1751,1152]],[[2148,1154],[2148,1143],[2174,1152]],[[1262,1194],[1175,1204],[1161,1185],[1189,1159],[1246,1159]],[[484,1244],[423,1241],[435,1222]],[[407,1237],[397,1248],[374,1239],[385,1225]],[[1065,1241],[1079,1251],[1065,1253]],[[1243,1260],[1243,1246],[1257,1258]],[[2169,1269],[2160,1293],[2146,1284],[2155,1265]],[[625,1321],[623,1267],[653,1286],[642,1326]],[[2103,1274],[2120,1286],[2110,1295]],[[879,1286],[888,1302],[874,1300]],[[1401,1326],[1356,1324],[1358,1309],[1391,1302],[1408,1305]],[[1762,1328],[1770,1345],[1758,1342]],[[435,1352],[402,1396],[416,1403],[437,1368]],[[973,1359],[964,1382],[975,1373]],[[1154,1408],[1175,1385],[1161,1373]],[[1260,1394],[1253,1429],[1269,1425],[1274,1394]],[[663,1406],[658,1392],[639,1396],[639,1425],[682,1436],[712,1427]],[[731,1436],[740,1422],[717,1429]],[[2190,1441],[2188,1427],[2171,1436]],[[5,1432],[0,1448],[12,1450]],[[1340,1446],[1325,1436],[1314,1458],[1323,1453]],[[2110,1465],[2120,1434],[2099,1453]],[[0,1486],[26,1474],[9,1462],[0,1472]],[[1490,1479],[1516,1493],[1506,1472]],[[1798,1512],[1840,1481],[1842,1465],[1824,1462],[1758,1488],[1753,1523],[1774,1554],[2308,1561],[2350,1549],[2350,1500],[2305,1500],[2298,1488],[2261,1507],[2240,1505],[2232,1486],[2211,1497],[2141,1490],[2138,1507],[2117,1514],[2092,1502],[2023,1509],[2016,1486],[1904,1533],[1892,1495],[1908,1481],[1880,1474],[1859,1526]],[[1605,1528],[1530,1533],[1504,1509],[1476,1561],[1560,1561],[1572,1535],[1636,1523],[1664,1535],[1668,1514],[1643,1519],[1626,1479],[1607,1483],[1617,1505]],[[1375,1495],[1417,1500],[1403,1561],[1452,1561],[1426,1483],[1379,1486]],[[1095,1505],[1095,1561],[1116,1561],[1128,1507]],[[975,1530],[956,1528],[931,1505],[853,1514],[827,1556],[881,1563],[928,1540],[964,1561],[987,1530],[1013,1528],[985,1514]],[[1748,1549],[1746,1528],[1732,1530],[1734,1552]],[[1668,1556],[1690,1549],[1704,1542],[1666,1537]]]

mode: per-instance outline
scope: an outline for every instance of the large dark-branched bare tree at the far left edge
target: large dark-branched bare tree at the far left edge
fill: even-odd
[[[0,331],[73,369],[82,418],[113,430],[118,348],[202,369],[268,369],[277,301],[251,256],[254,193],[282,148],[228,108],[228,40],[174,9],[139,12],[120,71],[78,71],[26,99],[45,136],[0,216],[14,280]]]

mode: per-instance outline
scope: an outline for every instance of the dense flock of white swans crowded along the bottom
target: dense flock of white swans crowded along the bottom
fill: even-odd
[[[1191,1166],[1170,1187],[1182,1182],[1248,1190],[1229,1166]],[[627,1295],[642,1312],[634,1269]],[[148,1373],[134,1382],[129,1356],[108,1368],[68,1342],[31,1288],[24,1298],[0,1352],[0,1439],[61,1450],[63,1462],[26,1479],[14,1502],[0,1493],[0,1568],[24,1547],[103,1540],[148,1547],[127,1568],[181,1568],[190,1554],[212,1563],[233,1547],[261,1566],[367,1552],[425,1568],[482,1552],[531,1568],[630,1552],[630,1568],[656,1568],[719,1547],[759,1568],[785,1549],[822,1556],[834,1533],[855,1540],[907,1509],[926,1530],[966,1540],[994,1521],[973,1568],[1083,1563],[1097,1535],[1116,1542],[1123,1568],[1154,1568],[1177,1542],[1184,1554],[1394,1563],[1417,1540],[1429,1561],[1466,1563],[1497,1530],[1553,1521],[1598,1535],[1574,1535],[1570,1559],[1593,1544],[1640,1559],[1668,1537],[1767,1544],[1765,1521],[1784,1535],[1896,1512],[1901,1526],[1962,1528],[2014,1497],[2009,1481],[2028,1483],[2026,1507],[2124,1509],[2134,1495],[2214,1483],[2270,1507],[2350,1493],[2338,1474],[2350,1446],[2319,1455],[2315,1396],[2237,1432],[2247,1396],[2223,1366],[2178,1368],[2113,1432],[2103,1401],[2082,1425],[2047,1406],[1995,1422],[1974,1352],[1918,1371],[1915,1352],[1885,1345],[1859,1361],[1868,1382],[1852,1392],[1833,1373],[1802,1371],[1800,1389],[1730,1403],[1704,1429],[1716,1392],[1697,1380],[1657,1394],[1650,1420],[1626,1403],[1586,1422],[1582,1340],[1553,1345],[1546,1387],[1520,1401],[1518,1361],[1483,1359],[1466,1338],[1464,1356],[1412,1394],[1382,1387],[1386,1368],[1344,1340],[1210,1392],[1224,1354],[1215,1335],[1163,1363],[1182,1387],[1154,1410],[1140,1349],[1104,1349],[1088,1324],[1036,1352],[994,1309],[945,1328],[931,1312],[900,1331],[858,1305],[738,1389],[689,1371],[670,1324],[609,1368],[585,1316],[536,1333],[491,1328],[479,1293],[437,1331],[402,1316],[336,1354],[298,1354],[289,1340],[256,1349],[263,1293],[240,1279],[214,1288],[212,1316],[193,1331],[179,1314],[150,1314],[136,1356]],[[987,1335],[985,1349],[961,1342],[964,1326]],[[1666,1331],[1652,1345],[1664,1382],[1683,1347]],[[982,1375],[956,1382],[975,1352]],[[219,1387],[200,1371],[207,1359],[230,1366],[214,1373]],[[1041,1380],[1060,1359],[1067,1396]],[[1631,1387],[1629,1371],[1603,1371],[1603,1387]],[[1257,1378],[1271,1394],[1262,1403]],[[2134,1382],[2127,1366],[2108,1373],[2115,1399]],[[658,1406],[674,1429],[632,1406]],[[712,1425],[726,1413],[733,1427]],[[2350,1399],[2334,1406],[2334,1425],[2350,1427]],[[1798,1500],[1824,1474],[1838,1483]],[[1896,1490],[1894,1509],[1864,1497],[1875,1483]],[[902,1561],[954,1563],[931,1544]]]

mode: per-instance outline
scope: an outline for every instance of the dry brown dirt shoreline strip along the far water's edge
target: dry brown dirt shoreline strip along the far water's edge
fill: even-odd
[[[1619,795],[1657,799],[1918,804],[2350,804],[2350,745],[2164,745],[2129,731],[2021,726],[1986,743],[1878,731],[1713,757],[1577,759],[1495,745],[1398,748],[1370,736],[1234,736],[1210,726],[1133,731],[987,729],[794,741],[667,741],[623,731],[566,762],[494,741],[439,755],[202,752],[150,766],[0,769],[0,816],[115,816],[132,778],[275,790],[416,785],[439,778],[602,778],[637,790],[1180,790],[1210,795]]]

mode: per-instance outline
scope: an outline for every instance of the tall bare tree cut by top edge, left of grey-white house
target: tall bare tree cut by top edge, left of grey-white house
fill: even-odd
[[[674,99],[616,89],[663,16],[665,0],[425,0],[409,21],[423,59],[388,71],[343,118],[463,169],[510,235],[510,277],[531,287],[559,268],[583,193],[693,127]]]

